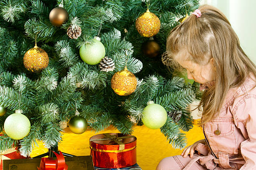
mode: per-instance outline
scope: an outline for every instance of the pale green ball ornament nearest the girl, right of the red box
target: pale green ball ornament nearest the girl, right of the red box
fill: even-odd
[[[161,128],[167,120],[167,113],[164,107],[154,104],[153,101],[149,101],[147,104],[148,105],[143,109],[142,112],[142,122],[150,129]]]

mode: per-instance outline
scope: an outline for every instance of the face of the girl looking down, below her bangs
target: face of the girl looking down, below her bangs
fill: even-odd
[[[200,84],[215,80],[216,69],[213,65],[213,58],[206,65],[199,65],[189,60],[178,60],[177,62],[187,70],[188,79],[193,79]]]

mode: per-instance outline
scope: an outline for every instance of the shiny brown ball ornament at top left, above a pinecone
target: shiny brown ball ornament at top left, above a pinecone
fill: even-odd
[[[51,10],[49,19],[52,25],[56,27],[60,27],[63,23],[65,23],[68,20],[68,12],[63,7],[63,0],[60,3],[59,7],[55,7]]]

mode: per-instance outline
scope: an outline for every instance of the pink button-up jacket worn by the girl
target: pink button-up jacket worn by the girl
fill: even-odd
[[[229,90],[219,116],[203,126],[207,144],[199,144],[196,150],[204,156],[189,164],[199,161],[210,170],[236,170],[235,163],[240,170],[256,170],[255,85],[247,77],[240,87]]]

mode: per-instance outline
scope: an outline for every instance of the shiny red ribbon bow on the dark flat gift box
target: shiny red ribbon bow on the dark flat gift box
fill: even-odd
[[[53,151],[52,151],[53,152]],[[59,155],[53,152],[57,159],[53,160],[53,158],[41,158],[40,168],[37,167],[38,170],[67,170],[68,165],[65,163],[65,158],[61,151],[59,151]]]

